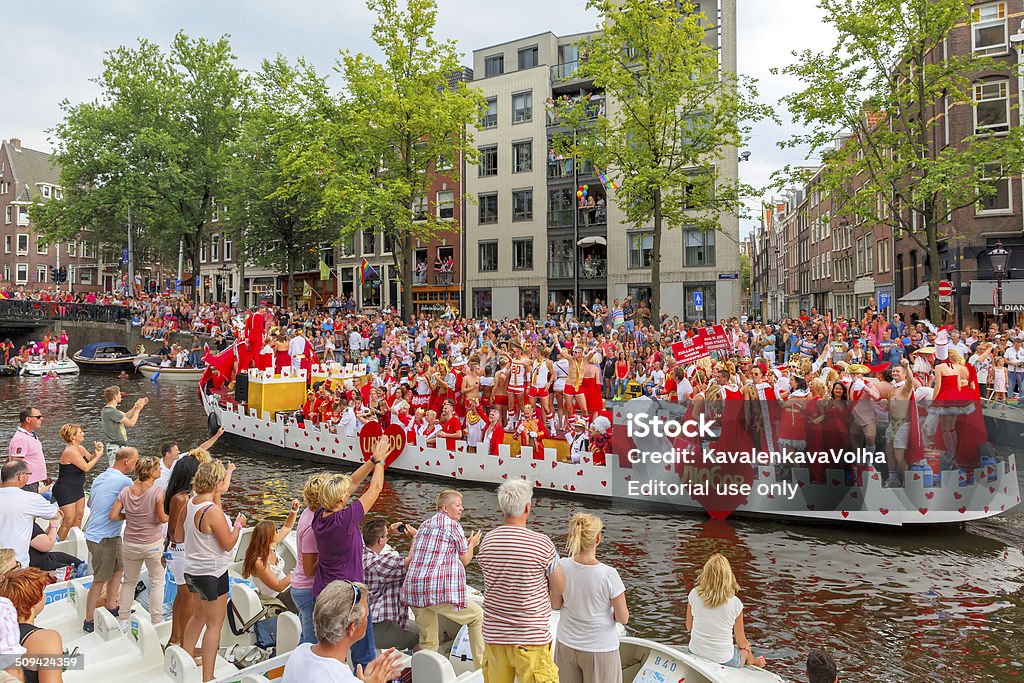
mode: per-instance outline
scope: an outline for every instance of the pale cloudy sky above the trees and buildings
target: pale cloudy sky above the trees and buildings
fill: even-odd
[[[437,2],[437,36],[458,42],[466,66],[472,50],[480,47],[545,31],[579,33],[597,25],[586,0]],[[772,171],[804,161],[800,152],[776,145],[796,131],[779,99],[798,84],[769,70],[790,63],[794,50],[827,49],[834,34],[822,24],[814,0],[737,3],[739,72],[758,79],[762,101],[776,106],[783,121],[781,126],[757,125],[745,147],[750,161],[739,165],[744,182],[765,187]],[[178,30],[191,37],[227,34],[244,69],[254,71],[263,58],[280,52],[291,59],[305,57],[329,74],[339,50],[375,53],[373,23],[364,0],[51,0],[36,9],[8,12],[0,41],[5,67],[0,138],[18,137],[25,146],[50,151],[47,131],[61,118],[60,102],[95,98],[92,79],[101,71],[103,53],[134,45],[140,37],[166,47]],[[753,225],[741,221],[741,234]]]

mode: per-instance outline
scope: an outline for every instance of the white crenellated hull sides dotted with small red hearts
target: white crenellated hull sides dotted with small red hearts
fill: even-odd
[[[211,418],[210,427],[223,426],[232,440],[244,439],[254,451],[300,461],[356,467],[364,462],[357,438],[338,434],[328,428],[306,424],[299,426],[284,418],[269,421],[255,411],[231,401],[221,402],[215,395],[204,397]],[[623,408],[616,409],[616,423]],[[624,452],[625,453],[625,452]],[[648,469],[644,469],[648,468]],[[554,449],[535,454],[523,449],[513,457],[508,445],[500,446],[498,456],[477,453],[465,441],[456,441],[453,450],[431,447],[425,442],[410,442],[390,466],[392,472],[411,476],[458,479],[479,484],[498,485],[508,479],[531,481],[539,492],[559,496],[585,497],[607,502],[665,507],[690,512],[705,509],[687,495],[636,495],[637,482],[678,475],[673,466],[634,465],[623,454],[610,455],[606,465],[590,459],[573,464],[560,462]],[[775,468],[758,468],[757,482],[770,489],[783,484],[776,479]],[[782,518],[807,523],[861,523],[885,526],[934,525],[962,523],[998,515],[1020,502],[1016,461],[1013,457],[990,468],[979,468],[971,485],[959,485],[957,471],[944,473],[942,485],[926,488],[921,478],[908,477],[903,488],[883,488],[878,472],[865,473],[858,486],[843,485],[844,472],[829,470],[825,483],[812,483],[806,468],[793,470],[794,498],[755,496],[737,506],[734,514]],[[775,488],[771,488],[771,487]],[[833,501],[839,499],[840,505]]]

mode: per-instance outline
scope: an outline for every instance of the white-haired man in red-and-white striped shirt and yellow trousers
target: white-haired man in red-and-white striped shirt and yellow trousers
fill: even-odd
[[[526,528],[532,484],[498,489],[505,523],[487,532],[477,561],[483,568],[483,678],[487,683],[557,680],[551,654],[551,595],[565,587],[551,539]]]

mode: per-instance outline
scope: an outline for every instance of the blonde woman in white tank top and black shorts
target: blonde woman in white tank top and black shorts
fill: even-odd
[[[219,505],[220,494],[228,483],[227,470],[219,460],[200,465],[193,481],[196,496],[188,501],[185,513],[185,586],[195,594],[195,609],[181,646],[193,654],[206,628],[201,649],[204,681],[214,679],[220,629],[227,614],[227,565],[246,525],[246,516],[240,514],[231,527]]]

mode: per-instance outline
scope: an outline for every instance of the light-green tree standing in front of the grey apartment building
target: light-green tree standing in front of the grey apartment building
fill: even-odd
[[[603,31],[579,46],[575,78],[608,95],[595,118],[584,98],[556,101],[556,146],[621,178],[615,201],[628,223],[653,225],[651,317],[659,319],[664,229],[719,229],[752,188],[724,178],[718,162],[735,154],[749,123],[770,115],[753,81],[720,68],[707,42],[708,18],[688,1],[588,0]],[[735,236],[729,236],[736,240]]]

